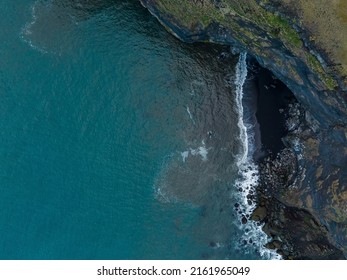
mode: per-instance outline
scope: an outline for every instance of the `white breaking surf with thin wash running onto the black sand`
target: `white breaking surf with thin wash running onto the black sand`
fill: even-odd
[[[256,189],[259,184],[259,167],[254,160],[254,154],[259,145],[259,125],[256,119],[257,91],[251,87],[249,80],[248,55],[241,53],[236,65],[234,85],[236,86],[236,104],[239,113],[238,126],[240,129],[241,153],[238,156],[239,178],[235,182],[238,193],[238,203],[235,210],[239,228],[243,231],[242,243],[247,247],[255,247],[265,259],[280,259],[280,255],[271,248],[266,248],[269,241],[262,231],[261,225],[250,219],[257,201]]]

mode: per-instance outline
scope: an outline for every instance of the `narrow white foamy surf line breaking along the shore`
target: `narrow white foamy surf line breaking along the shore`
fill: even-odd
[[[236,93],[236,106],[238,110],[238,127],[240,129],[240,142],[241,152],[238,155],[237,166],[238,175],[235,186],[237,190],[238,205],[238,226],[243,232],[242,240],[237,246],[243,246],[240,249],[247,251],[256,250],[264,259],[281,259],[281,256],[275,250],[267,249],[265,244],[271,239],[262,231],[262,224],[259,224],[250,219],[256,205],[254,197],[256,195],[256,187],[259,183],[259,169],[253,160],[254,145],[254,125],[246,123],[243,95],[244,84],[246,83],[248,75],[247,70],[247,53],[241,53],[239,61],[236,64],[235,74],[235,93]],[[241,214],[240,214],[241,213]]]

